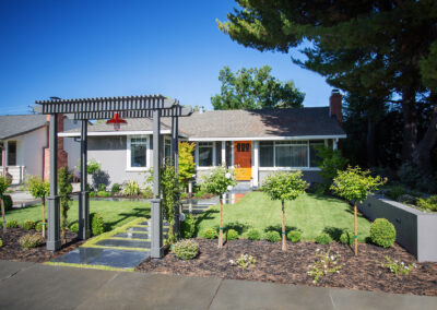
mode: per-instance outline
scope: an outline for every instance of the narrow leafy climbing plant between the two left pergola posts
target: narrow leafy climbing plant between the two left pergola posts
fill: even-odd
[[[60,201],[60,227],[61,227],[61,239],[67,242],[66,233],[68,230],[68,211],[70,210],[71,193],[73,187],[71,184],[72,176],[67,167],[62,167],[58,170],[58,188],[59,188],[59,201]]]

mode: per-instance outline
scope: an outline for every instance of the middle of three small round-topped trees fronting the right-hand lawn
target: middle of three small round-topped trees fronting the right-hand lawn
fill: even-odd
[[[293,201],[305,193],[308,183],[303,179],[300,170],[272,174],[265,178],[261,191],[271,200],[280,200],[282,206],[282,250],[286,251],[285,201]]]

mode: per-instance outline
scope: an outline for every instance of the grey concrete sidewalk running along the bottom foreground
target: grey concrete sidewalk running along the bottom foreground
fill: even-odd
[[[0,309],[437,309],[436,297],[0,261]]]

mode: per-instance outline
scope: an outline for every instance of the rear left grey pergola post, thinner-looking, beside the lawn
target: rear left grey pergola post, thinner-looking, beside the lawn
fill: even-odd
[[[87,183],[87,120],[82,120],[81,128],[81,192],[79,194],[79,239],[90,238],[90,200]]]

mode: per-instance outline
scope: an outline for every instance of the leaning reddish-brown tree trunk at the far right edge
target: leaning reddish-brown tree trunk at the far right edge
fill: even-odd
[[[430,152],[437,144],[437,105],[434,106],[428,129],[413,153],[413,162],[418,166],[422,174],[432,175],[433,166]]]

